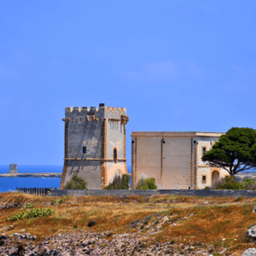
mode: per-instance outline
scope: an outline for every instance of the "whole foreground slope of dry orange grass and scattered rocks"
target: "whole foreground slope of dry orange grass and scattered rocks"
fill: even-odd
[[[252,199],[2,195],[0,256],[256,255]],[[54,213],[8,220],[38,207]]]

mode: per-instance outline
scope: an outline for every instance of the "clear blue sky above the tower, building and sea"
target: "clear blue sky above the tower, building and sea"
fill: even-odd
[[[62,165],[65,107],[131,131],[256,128],[256,1],[0,1],[0,164]]]

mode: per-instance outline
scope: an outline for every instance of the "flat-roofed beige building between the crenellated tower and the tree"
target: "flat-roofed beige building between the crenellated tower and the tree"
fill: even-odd
[[[140,178],[154,177],[158,189],[203,189],[224,169],[207,166],[201,156],[218,141],[220,132],[151,132],[131,134],[131,187]]]

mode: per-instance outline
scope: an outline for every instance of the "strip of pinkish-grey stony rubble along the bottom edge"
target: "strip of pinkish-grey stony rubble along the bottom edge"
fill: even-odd
[[[44,241],[30,234],[14,234],[2,236],[4,245],[0,247],[0,255],[209,255],[211,246],[200,242],[194,246],[172,241],[165,243],[147,241],[145,236],[124,234],[112,236],[111,233],[87,233],[85,231],[70,234],[49,236]]]

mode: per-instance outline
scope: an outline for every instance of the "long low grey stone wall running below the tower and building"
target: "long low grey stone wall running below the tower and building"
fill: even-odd
[[[207,189],[156,189],[156,190],[137,190],[137,189],[53,189],[51,196],[65,195],[191,195],[191,196],[242,196],[256,197],[256,190],[207,190]]]

